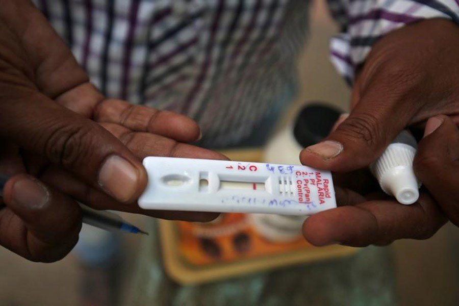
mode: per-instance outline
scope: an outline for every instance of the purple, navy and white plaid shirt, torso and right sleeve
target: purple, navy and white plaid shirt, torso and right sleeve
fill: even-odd
[[[349,80],[382,35],[423,18],[459,22],[459,0],[328,0]],[[207,145],[236,143],[292,99],[304,0],[34,0],[105,95],[196,119]]]

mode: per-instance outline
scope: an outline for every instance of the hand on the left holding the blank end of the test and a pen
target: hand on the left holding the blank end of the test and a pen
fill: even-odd
[[[81,228],[77,200],[159,218],[217,216],[136,203],[145,156],[225,159],[186,144],[199,137],[193,120],[105,98],[29,1],[0,7],[0,173],[11,176],[0,198],[0,245],[33,261],[63,258]]]

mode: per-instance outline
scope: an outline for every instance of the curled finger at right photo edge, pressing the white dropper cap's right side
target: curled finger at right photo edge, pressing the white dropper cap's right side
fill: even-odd
[[[459,226],[459,131],[449,117],[427,121],[413,166],[418,179]]]

